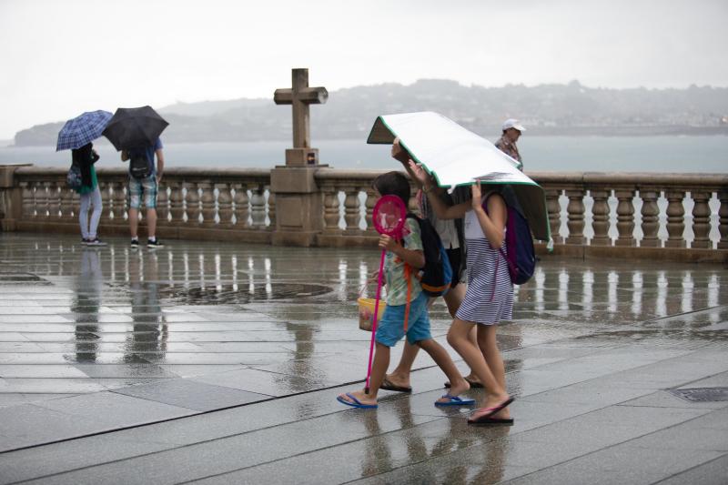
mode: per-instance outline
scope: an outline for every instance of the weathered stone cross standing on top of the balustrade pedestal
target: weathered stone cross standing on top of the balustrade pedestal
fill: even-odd
[[[276,89],[277,105],[293,105],[293,148],[286,150],[286,165],[318,165],[319,150],[311,148],[308,105],[322,105],[329,99],[325,87],[308,87],[308,69],[293,69],[291,89]]]

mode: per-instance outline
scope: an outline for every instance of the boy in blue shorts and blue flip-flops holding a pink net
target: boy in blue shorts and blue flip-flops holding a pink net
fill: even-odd
[[[410,201],[410,181],[400,172],[388,172],[374,180],[372,184],[377,197],[393,195],[404,202]],[[377,392],[389,368],[389,349],[402,337],[412,345],[424,349],[450,379],[450,392],[435,401],[436,406],[460,406],[474,404],[473,399],[460,399],[458,396],[470,389],[450,359],[450,355],[430,335],[430,317],[427,312],[428,297],[422,293],[417,270],[425,266],[422,252],[420,225],[408,217],[403,229],[403,239],[398,241],[389,236],[379,236],[379,248],[386,249],[384,272],[387,280],[387,308],[377,324],[375,335],[376,350],[367,389],[339,394],[339,402],[354,408],[377,408]],[[408,279],[410,298],[408,302]],[[407,331],[404,318],[410,307]]]

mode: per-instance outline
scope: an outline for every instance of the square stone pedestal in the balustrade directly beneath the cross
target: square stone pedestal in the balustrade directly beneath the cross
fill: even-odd
[[[276,195],[275,246],[314,246],[323,230],[323,193],[314,178],[319,167],[276,167],[270,192]]]

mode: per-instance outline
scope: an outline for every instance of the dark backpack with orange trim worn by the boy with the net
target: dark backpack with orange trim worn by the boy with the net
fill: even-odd
[[[452,268],[450,268],[448,253],[442,246],[440,235],[435,227],[432,227],[430,220],[420,219],[411,213],[407,217],[415,219],[420,225],[422,252],[425,256],[425,266],[420,269],[418,275],[422,291],[429,297],[440,297],[448,292],[452,282]]]

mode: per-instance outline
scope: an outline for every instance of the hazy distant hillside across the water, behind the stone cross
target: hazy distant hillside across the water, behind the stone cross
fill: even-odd
[[[463,86],[422,79],[403,86],[356,86],[311,107],[315,138],[361,138],[383,114],[437,111],[479,134],[517,117],[532,135],[728,134],[728,88],[605,89],[568,85]],[[272,99],[177,103],[158,110],[167,142],[255,141],[291,137],[290,106]],[[54,145],[63,123],[18,132],[15,145]]]

